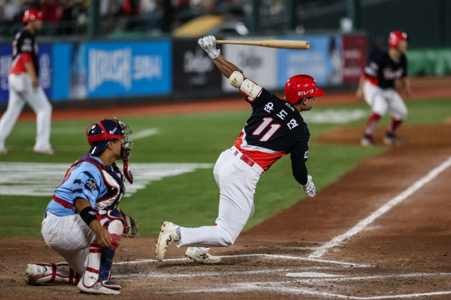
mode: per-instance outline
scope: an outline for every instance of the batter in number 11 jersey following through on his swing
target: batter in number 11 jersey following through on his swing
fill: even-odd
[[[199,40],[199,45],[213,59],[217,68],[238,88],[252,106],[252,115],[245,123],[234,145],[221,153],[213,168],[220,188],[219,215],[214,226],[185,228],[169,221],[162,224],[155,247],[162,261],[171,242],[178,247],[190,246],[185,255],[203,263],[220,262],[210,255],[212,246],[231,246],[254,214],[254,192],[261,175],[284,155],[291,155],[293,176],[309,197],[315,196],[312,177],[307,175],[309,129],[300,111],[309,111],[315,97],[324,95],[316,81],[308,75],[288,79],[284,99],[247,79],[233,63],[220,55],[214,36]]]

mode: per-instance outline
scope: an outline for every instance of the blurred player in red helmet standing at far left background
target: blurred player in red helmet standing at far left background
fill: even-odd
[[[22,16],[24,27],[15,35],[13,42],[13,64],[8,76],[8,108],[0,119],[0,154],[8,153],[5,140],[17,121],[25,103],[36,113],[35,152],[55,155],[50,145],[52,105],[39,84],[38,45],[35,35],[43,26],[43,14],[36,10],[25,10]]]

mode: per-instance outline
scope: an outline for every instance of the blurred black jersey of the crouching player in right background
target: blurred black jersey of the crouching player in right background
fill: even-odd
[[[376,86],[395,88],[395,81],[407,76],[407,58],[402,54],[399,61],[393,61],[385,52],[376,61],[370,62],[363,72]]]

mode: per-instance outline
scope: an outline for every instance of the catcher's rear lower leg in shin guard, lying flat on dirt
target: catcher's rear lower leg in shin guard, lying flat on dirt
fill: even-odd
[[[74,271],[68,263],[45,264],[38,262],[26,266],[26,283],[39,285],[40,283],[70,283],[77,285],[80,274]]]

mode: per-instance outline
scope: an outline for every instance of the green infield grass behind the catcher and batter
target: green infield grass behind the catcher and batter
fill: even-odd
[[[409,116],[406,124],[443,123],[451,116],[449,99],[415,100],[407,102],[407,106]],[[314,111],[325,109],[365,109],[369,113],[369,107],[362,103],[317,106]],[[159,129],[159,134],[135,141],[130,166],[133,168],[134,162],[214,164],[220,152],[231,147],[249,116],[250,109],[185,116],[123,118],[134,132],[148,128]],[[90,121],[52,123],[52,145],[60,150],[60,154],[56,156],[33,153],[36,125],[34,122],[19,122],[6,141],[10,154],[0,156],[0,164],[2,161],[36,161],[60,162],[69,166],[89,150],[84,129]],[[346,126],[363,127],[365,123],[366,117]],[[388,116],[385,116],[381,123],[388,123]],[[314,138],[338,126],[342,125],[309,124],[309,129]],[[307,168],[313,176],[316,189],[320,190],[353,169],[360,161],[378,155],[385,149],[387,148],[362,148],[357,143],[311,143]],[[40,222],[50,197],[51,195],[0,196],[0,238],[40,237]],[[219,190],[213,179],[213,170],[208,168],[151,182],[145,189],[124,198],[121,207],[133,216],[137,223],[142,222],[142,236],[156,236],[160,223],[165,220],[188,227],[212,224],[217,216],[218,198]],[[283,157],[261,177],[255,195],[255,214],[245,229],[303,199],[306,199],[306,196],[291,175],[289,156]]]

